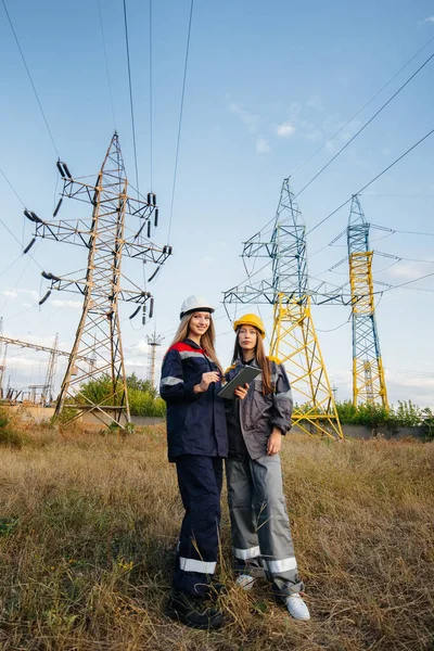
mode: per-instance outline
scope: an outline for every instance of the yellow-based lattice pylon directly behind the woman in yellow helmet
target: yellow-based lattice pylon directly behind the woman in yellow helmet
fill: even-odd
[[[258,233],[259,234],[259,233]],[[244,257],[269,257],[271,280],[232,288],[224,303],[268,303],[273,305],[270,355],[285,365],[291,385],[301,404],[295,405],[293,423],[308,434],[343,438],[315,331],[310,304],[350,302],[350,296],[328,292],[321,283],[309,290],[306,257],[306,227],[289,179],[284,179],[272,235],[263,241],[254,235],[244,243]]]

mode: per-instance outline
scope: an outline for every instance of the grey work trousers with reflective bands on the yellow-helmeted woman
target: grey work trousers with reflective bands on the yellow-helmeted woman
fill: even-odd
[[[226,477],[237,571],[265,573],[282,598],[299,592],[279,455],[227,459]]]

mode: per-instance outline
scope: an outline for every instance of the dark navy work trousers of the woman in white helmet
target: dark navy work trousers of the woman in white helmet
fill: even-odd
[[[205,595],[216,570],[222,459],[182,455],[176,460],[186,514],[179,537],[174,588],[194,597]]]

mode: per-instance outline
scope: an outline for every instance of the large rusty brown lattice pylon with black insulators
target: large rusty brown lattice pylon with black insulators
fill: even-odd
[[[149,193],[148,200],[141,201],[127,193],[128,179],[117,133],[111,140],[94,186],[74,179],[67,165],[61,161],[58,162],[58,168],[64,187],[53,217],[56,217],[65,196],[89,202],[93,208],[90,221],[78,219],[74,222],[43,221],[31,210],[24,212],[35,224],[33,241],[39,235],[88,248],[84,279],[42,272],[43,278],[51,281],[51,285],[41,304],[52,290],[78,291],[84,296],[81,318],[59,394],[55,416],[60,416],[64,407],[73,407],[76,412],[67,422],[76,420],[84,412],[91,412],[104,424],[115,423],[125,427],[130,421],[130,413],[118,302],[123,299],[138,304],[130,318],[142,309],[144,321],[148,304],[149,317],[152,317],[153,297],[144,288],[128,281],[122,273],[122,260],[124,256],[128,256],[143,264],[162,265],[170,255],[171,247],[159,247],[150,240],[158,219],[155,194]],[[139,225],[132,230],[135,234],[130,237],[125,233],[126,216],[139,220]],[[29,246],[26,251],[28,250]],[[155,271],[152,277],[154,275]],[[132,289],[120,286],[122,278]],[[95,363],[84,363],[82,358],[94,358]],[[82,384],[102,375],[110,379],[110,392],[101,399],[93,399],[89,392],[82,391]]]

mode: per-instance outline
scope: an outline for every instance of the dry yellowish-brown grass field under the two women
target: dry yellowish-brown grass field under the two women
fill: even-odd
[[[312,618],[234,586],[225,507],[226,625],[206,634],[163,614],[182,513],[164,427],[27,425],[0,446],[0,648],[433,650],[434,444],[288,436],[282,463]]]

